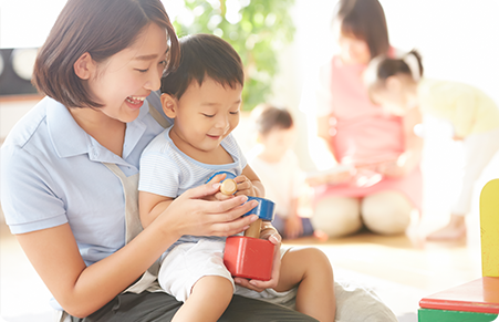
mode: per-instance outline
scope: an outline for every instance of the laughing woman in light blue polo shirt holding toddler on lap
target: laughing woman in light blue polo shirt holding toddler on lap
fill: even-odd
[[[245,196],[206,201],[218,186],[204,185],[145,230],[134,221],[139,156],[168,124],[154,91],[178,58],[159,0],[70,0],[40,50],[34,83],[46,97],[2,146],[1,201],[72,321],[169,321],[181,303],[155,292],[160,255],[183,235],[233,235],[256,219],[240,217],[254,206]],[[236,297],[221,321],[252,311],[256,321],[313,320]]]

